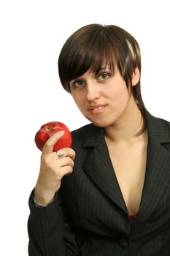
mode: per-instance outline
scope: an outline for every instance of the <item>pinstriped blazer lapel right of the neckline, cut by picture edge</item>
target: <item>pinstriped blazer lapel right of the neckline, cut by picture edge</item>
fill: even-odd
[[[152,214],[170,183],[170,151],[163,145],[169,143],[170,136],[160,119],[147,114],[149,142],[147,167],[142,200],[137,218],[140,222]]]

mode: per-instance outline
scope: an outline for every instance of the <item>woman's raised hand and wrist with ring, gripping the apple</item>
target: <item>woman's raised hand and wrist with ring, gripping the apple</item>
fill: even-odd
[[[56,132],[47,140],[42,149],[34,199],[43,206],[47,206],[53,200],[55,192],[61,187],[61,179],[64,175],[72,173],[73,170],[75,151],[72,148],[62,148],[53,152],[53,146],[63,134],[63,131]]]

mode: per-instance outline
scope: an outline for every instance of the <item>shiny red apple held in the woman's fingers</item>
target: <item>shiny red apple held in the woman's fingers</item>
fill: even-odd
[[[55,143],[53,151],[58,151],[61,148],[70,148],[72,146],[72,135],[69,128],[65,124],[58,121],[51,121],[42,125],[35,135],[35,143],[37,148],[42,151],[48,138],[50,138],[55,132],[64,131],[63,137]]]

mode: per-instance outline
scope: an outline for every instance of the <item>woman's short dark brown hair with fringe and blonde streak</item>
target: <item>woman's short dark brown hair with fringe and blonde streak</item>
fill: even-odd
[[[131,86],[131,93],[141,110],[144,125],[142,134],[147,127],[142,100],[140,80],[136,86],[131,85],[131,78],[136,68],[141,72],[141,56],[136,39],[118,26],[90,24],[83,26],[66,40],[58,59],[58,72],[61,84],[70,92],[69,82],[88,70],[98,72],[101,68],[117,68],[125,80],[126,86]]]

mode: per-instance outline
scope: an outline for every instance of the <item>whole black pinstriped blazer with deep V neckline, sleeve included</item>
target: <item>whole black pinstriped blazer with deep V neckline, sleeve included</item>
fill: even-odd
[[[170,123],[147,113],[147,167],[139,212],[130,222],[104,129],[72,132],[74,171],[53,203],[28,219],[30,256],[169,256]]]

